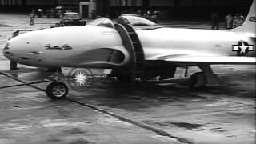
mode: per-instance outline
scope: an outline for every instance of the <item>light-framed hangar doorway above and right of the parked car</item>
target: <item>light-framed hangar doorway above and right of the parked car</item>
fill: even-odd
[[[79,11],[82,18],[91,18],[91,10],[96,10],[95,0],[88,0],[88,2],[79,2]]]

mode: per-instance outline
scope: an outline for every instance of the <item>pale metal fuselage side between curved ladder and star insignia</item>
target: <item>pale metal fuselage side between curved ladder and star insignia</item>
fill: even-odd
[[[239,41],[255,46],[255,42],[247,33],[237,34],[223,30],[160,28],[156,30],[137,30],[137,34],[148,60],[180,54],[237,56],[237,53],[232,51],[232,46],[237,45]],[[255,56],[255,51],[249,51],[246,56]]]

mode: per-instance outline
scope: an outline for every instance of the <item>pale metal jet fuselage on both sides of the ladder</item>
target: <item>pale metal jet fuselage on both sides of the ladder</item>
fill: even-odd
[[[239,41],[255,45],[247,33],[229,30],[158,28],[136,30],[145,59],[166,54],[237,56]],[[7,58],[30,66],[113,68],[124,66],[130,55],[117,30],[101,26],[74,26],[37,30],[10,39]],[[247,56],[254,56],[248,52]]]

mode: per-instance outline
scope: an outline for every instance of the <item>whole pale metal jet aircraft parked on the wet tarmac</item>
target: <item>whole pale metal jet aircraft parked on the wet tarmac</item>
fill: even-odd
[[[242,26],[233,30],[167,28],[144,18],[99,18],[86,26],[35,30],[10,38],[3,54],[28,66],[112,69],[120,81],[173,78],[180,66],[198,66],[190,86],[218,86],[211,65],[254,65],[255,0]],[[68,88],[52,82],[46,94],[64,98]]]

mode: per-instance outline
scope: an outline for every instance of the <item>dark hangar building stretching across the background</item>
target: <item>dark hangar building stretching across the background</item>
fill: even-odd
[[[0,0],[0,11],[28,12],[33,8],[68,6],[90,15],[90,10],[114,18],[119,14],[133,14],[138,10],[158,10],[162,18],[208,18],[212,10],[224,16],[227,13],[246,14],[252,0]],[[202,12],[203,11],[203,12]]]

